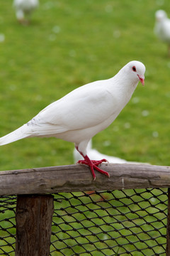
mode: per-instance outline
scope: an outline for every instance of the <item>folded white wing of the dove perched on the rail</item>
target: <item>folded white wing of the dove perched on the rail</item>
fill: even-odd
[[[116,97],[106,90],[107,81],[79,87],[45,107],[29,123],[35,124],[37,129],[43,127],[43,131],[40,129],[43,134],[57,134],[94,127],[104,122],[118,111]]]

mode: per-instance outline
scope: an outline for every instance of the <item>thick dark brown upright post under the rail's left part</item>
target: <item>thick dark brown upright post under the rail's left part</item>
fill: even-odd
[[[21,195],[16,203],[16,256],[50,255],[51,195]]]

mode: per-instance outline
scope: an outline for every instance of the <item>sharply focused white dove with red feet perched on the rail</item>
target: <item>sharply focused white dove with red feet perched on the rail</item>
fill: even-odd
[[[78,164],[90,167],[109,177],[108,172],[98,168],[106,159],[89,159],[86,147],[91,137],[106,129],[130,100],[137,83],[145,84],[145,65],[131,61],[108,80],[83,85],[39,112],[27,124],[0,138],[0,145],[26,137],[57,137],[74,142],[84,160]]]

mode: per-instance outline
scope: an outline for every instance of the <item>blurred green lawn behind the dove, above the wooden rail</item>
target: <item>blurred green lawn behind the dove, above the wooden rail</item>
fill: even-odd
[[[94,137],[94,148],[169,165],[170,58],[153,33],[157,9],[170,10],[170,1],[40,0],[30,25],[21,26],[12,1],[1,1],[0,136],[71,90],[140,60],[145,87]],[[73,164],[73,149],[60,139],[23,139],[0,147],[0,170]]]

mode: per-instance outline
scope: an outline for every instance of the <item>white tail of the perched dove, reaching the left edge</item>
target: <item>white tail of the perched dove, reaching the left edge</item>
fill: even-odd
[[[4,137],[0,138],[0,146],[16,142],[19,139],[23,139],[26,137],[30,137],[30,128],[28,127],[28,124],[23,124],[22,127],[16,129],[15,131],[6,134]]]

